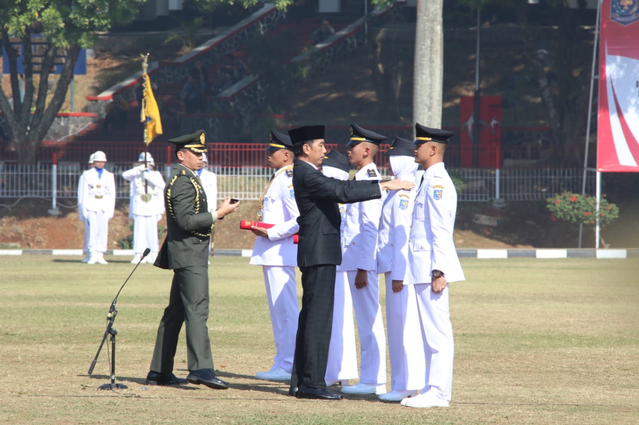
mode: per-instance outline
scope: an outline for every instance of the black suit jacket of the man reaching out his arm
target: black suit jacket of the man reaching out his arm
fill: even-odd
[[[302,160],[294,160],[293,166],[293,190],[300,210],[297,265],[341,264],[337,202],[351,204],[381,198],[379,182],[332,179]]]

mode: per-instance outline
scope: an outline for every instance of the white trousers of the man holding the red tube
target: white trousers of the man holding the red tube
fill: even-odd
[[[271,313],[271,326],[275,340],[275,358],[272,369],[293,370],[295,355],[295,336],[300,316],[297,301],[297,283],[295,267],[282,265],[263,265],[264,283],[268,310]]]

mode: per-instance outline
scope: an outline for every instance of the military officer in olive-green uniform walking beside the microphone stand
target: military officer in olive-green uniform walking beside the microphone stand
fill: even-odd
[[[204,384],[227,389],[228,384],[215,376],[211,343],[208,338],[208,246],[213,223],[235,212],[239,202],[226,198],[217,211],[208,211],[206,193],[197,177],[203,167],[204,130],[170,139],[175,145],[178,163],[164,189],[167,237],[155,265],[173,269],[169,305],[160,320],[151,371],[147,384]],[[173,375],[173,357],[182,324],[187,327],[187,379]]]

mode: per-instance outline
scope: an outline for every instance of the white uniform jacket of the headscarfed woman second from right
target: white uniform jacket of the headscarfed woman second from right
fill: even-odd
[[[390,272],[392,280],[406,278],[408,235],[414,204],[415,189],[394,190],[389,193],[381,208],[377,272]]]

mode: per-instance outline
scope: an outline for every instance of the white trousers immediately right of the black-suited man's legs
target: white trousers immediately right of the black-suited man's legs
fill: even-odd
[[[341,381],[357,379],[357,347],[355,347],[355,322],[353,298],[346,272],[335,275],[335,304],[333,327],[328,346],[328,363],[325,380]]]

